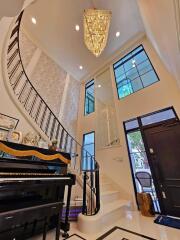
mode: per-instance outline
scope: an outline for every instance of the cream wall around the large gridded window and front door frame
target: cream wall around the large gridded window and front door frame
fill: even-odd
[[[131,46],[131,49],[143,44],[149,55],[154,68],[160,78],[160,81],[142,89],[122,100],[118,100],[117,89],[114,79],[112,65],[109,66],[111,71],[111,81],[114,93],[114,103],[116,117],[120,136],[120,147],[112,149],[103,149],[96,151],[96,159],[100,163],[100,170],[105,172],[121,189],[122,197],[131,199],[134,203],[134,189],[130,172],[130,163],[123,129],[123,121],[150,113],[165,107],[174,106],[180,116],[180,91],[174,77],[168,72],[160,60],[158,54],[153,49],[147,38],[141,39],[137,44]],[[128,48],[128,51],[131,50]],[[128,52],[126,51],[126,52]],[[125,52],[124,52],[125,54]],[[123,55],[119,55],[114,62]],[[113,63],[113,62],[112,62]],[[99,71],[99,73],[101,70]],[[92,130],[97,130],[95,126],[96,112],[84,117],[84,83],[81,87],[81,100],[79,110],[79,140],[82,141],[82,134]]]

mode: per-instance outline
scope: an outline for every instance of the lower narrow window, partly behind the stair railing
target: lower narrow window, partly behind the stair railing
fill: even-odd
[[[94,169],[94,153],[95,153],[95,134],[94,132],[83,135],[83,152],[82,152],[82,169]]]

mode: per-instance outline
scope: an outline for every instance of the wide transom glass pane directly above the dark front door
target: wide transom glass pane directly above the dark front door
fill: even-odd
[[[162,121],[173,119],[173,118],[176,118],[174,111],[172,109],[168,109],[162,112],[154,113],[146,117],[142,117],[141,121],[143,126],[145,126],[145,125],[162,122]]]

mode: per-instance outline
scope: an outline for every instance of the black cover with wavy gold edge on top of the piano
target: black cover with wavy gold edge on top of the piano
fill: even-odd
[[[58,159],[65,164],[69,164],[71,161],[70,154],[68,153],[6,141],[0,141],[0,151],[16,157],[35,156],[45,161],[52,161]]]

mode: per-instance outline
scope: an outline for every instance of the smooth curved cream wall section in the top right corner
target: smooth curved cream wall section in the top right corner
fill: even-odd
[[[180,0],[138,0],[146,33],[180,86]]]

